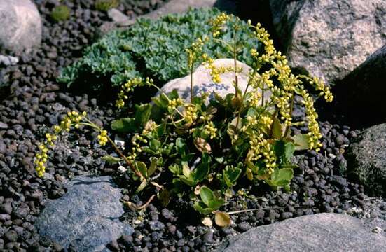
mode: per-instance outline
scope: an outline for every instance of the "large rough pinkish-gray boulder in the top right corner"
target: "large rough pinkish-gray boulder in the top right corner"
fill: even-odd
[[[344,78],[386,43],[384,0],[270,0],[291,67],[326,83]]]

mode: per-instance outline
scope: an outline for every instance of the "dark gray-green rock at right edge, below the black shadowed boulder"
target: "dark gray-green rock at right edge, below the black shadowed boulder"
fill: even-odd
[[[347,152],[347,175],[367,193],[386,196],[386,124],[362,132]]]

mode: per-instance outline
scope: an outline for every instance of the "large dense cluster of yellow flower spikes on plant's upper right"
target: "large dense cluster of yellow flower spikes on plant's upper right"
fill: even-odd
[[[271,64],[273,68],[263,72],[261,75],[256,72],[250,74],[252,87],[254,87],[255,92],[257,92],[257,90],[270,90],[272,93],[270,99],[279,110],[280,120],[283,120],[287,127],[292,124],[291,109],[294,102],[294,94],[301,95],[307,111],[306,117],[310,131],[308,133],[310,136],[309,145],[310,148],[319,151],[321,146],[319,139],[322,137],[322,134],[320,134],[319,125],[317,124],[317,113],[313,106],[312,97],[310,97],[303,86],[301,86],[302,82],[299,78],[304,78],[313,85],[317,91],[320,91],[319,95],[324,96],[327,102],[331,102],[333,99],[329,87],[326,87],[319,78],[294,76],[294,74],[291,73],[286,57],[282,55],[281,52],[275,50],[273,41],[270,39],[270,35],[266,29],[262,28],[260,24],[257,24],[254,28],[256,29],[256,38],[263,43],[265,50],[263,55],[259,55],[256,49],[251,50],[251,55],[256,59],[256,64],[258,65],[257,70],[266,63]],[[280,88],[273,85],[273,81],[270,79],[272,76],[277,77],[277,80],[280,82]],[[257,95],[254,97],[257,97]],[[253,99],[251,100],[253,101]],[[256,99],[253,104],[258,104]]]

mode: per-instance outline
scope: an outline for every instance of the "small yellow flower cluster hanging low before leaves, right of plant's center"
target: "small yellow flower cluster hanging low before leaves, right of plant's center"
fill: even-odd
[[[263,162],[266,164],[266,172],[272,174],[276,167],[276,155],[273,151],[273,146],[264,139],[263,134],[256,136],[255,134],[250,135],[249,146],[249,158],[251,161],[257,161],[263,158]]]

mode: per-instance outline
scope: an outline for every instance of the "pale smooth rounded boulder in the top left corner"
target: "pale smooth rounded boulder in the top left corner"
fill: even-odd
[[[41,17],[30,0],[0,0],[0,48],[31,50],[41,43]]]

